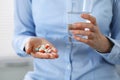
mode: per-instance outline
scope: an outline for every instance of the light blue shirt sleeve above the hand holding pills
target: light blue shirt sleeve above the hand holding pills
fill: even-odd
[[[31,0],[15,0],[13,48],[20,56],[27,56],[23,50],[28,38],[35,36]]]

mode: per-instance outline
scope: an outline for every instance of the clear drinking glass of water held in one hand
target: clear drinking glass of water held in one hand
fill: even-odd
[[[71,32],[69,31],[69,29],[72,26],[72,24],[76,23],[76,22],[89,22],[88,20],[85,20],[83,18],[80,17],[81,14],[83,13],[87,13],[87,14],[91,14],[92,12],[92,7],[93,7],[93,1],[94,0],[68,0],[67,2],[67,19],[68,19],[68,34],[69,37],[73,37]],[[85,29],[85,30],[89,30],[89,29]],[[82,36],[82,35],[78,35],[82,38],[87,38],[87,36]],[[72,39],[73,42],[77,42],[75,40]]]

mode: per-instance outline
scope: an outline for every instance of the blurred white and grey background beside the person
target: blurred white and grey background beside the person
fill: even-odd
[[[0,80],[23,80],[33,70],[32,58],[21,58],[14,52],[13,35],[14,0],[0,0]],[[120,66],[117,65],[120,74]]]

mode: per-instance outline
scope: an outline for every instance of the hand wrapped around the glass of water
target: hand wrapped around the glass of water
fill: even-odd
[[[74,27],[70,28],[70,30],[74,35],[74,39],[88,44],[99,52],[109,52],[111,43],[101,34],[96,23],[96,18],[89,14],[82,14],[81,17],[89,20],[90,23],[78,22],[73,24]],[[89,28],[90,30],[85,31],[85,28]],[[77,35],[88,36],[88,39],[81,38]]]

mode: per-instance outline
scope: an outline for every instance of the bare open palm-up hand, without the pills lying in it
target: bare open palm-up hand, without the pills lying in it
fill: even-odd
[[[36,48],[45,44],[49,44],[50,47],[54,48],[54,50],[51,53],[42,53],[42,52],[37,52],[35,50]],[[37,37],[30,38],[25,44],[25,51],[27,54],[32,55],[34,58],[41,58],[41,59],[58,58],[57,49],[50,42],[48,42],[43,38],[37,38]]]

